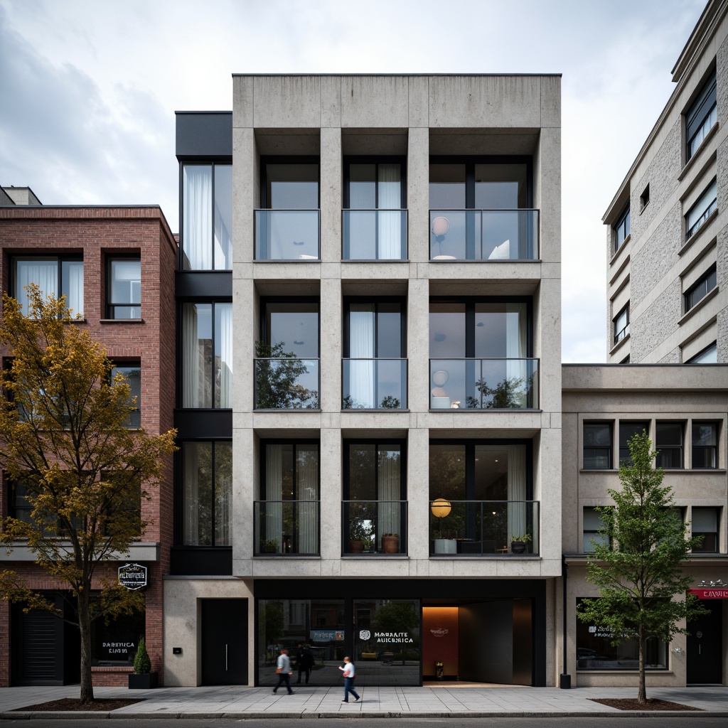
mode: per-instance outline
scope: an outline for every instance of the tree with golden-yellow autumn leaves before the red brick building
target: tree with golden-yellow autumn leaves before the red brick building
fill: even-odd
[[[126,427],[135,408],[123,376],[110,381],[103,347],[71,323],[63,298],[28,287],[28,317],[3,297],[0,342],[12,357],[0,372],[0,467],[18,486],[27,518],[6,518],[0,543],[23,543],[62,593],[71,594],[81,641],[81,703],[93,700],[91,622],[143,609],[138,591],[111,578],[109,559],[129,553],[143,533],[143,488],[162,478],[175,432],[151,436]],[[92,587],[101,585],[100,593]],[[0,598],[25,611],[57,612],[12,570],[0,572]]]

